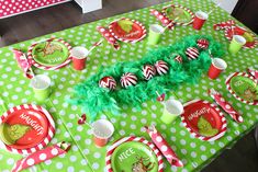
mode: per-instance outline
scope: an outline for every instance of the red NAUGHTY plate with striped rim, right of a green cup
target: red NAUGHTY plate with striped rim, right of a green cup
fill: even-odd
[[[181,119],[187,129],[201,140],[214,141],[226,131],[226,118],[217,106],[194,100],[184,104]]]

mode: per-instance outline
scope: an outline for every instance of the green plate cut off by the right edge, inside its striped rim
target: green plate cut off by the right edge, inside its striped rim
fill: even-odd
[[[258,85],[247,77],[236,76],[231,79],[231,88],[240,99],[249,102],[258,100]]]

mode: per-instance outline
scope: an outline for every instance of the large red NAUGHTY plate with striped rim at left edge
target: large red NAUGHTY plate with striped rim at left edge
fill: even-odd
[[[10,108],[0,118],[2,147],[29,154],[44,148],[55,134],[55,123],[43,107],[23,104]]]

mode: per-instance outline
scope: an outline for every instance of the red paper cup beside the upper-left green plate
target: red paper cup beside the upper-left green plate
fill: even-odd
[[[72,66],[76,70],[83,70],[86,68],[86,59],[89,51],[85,47],[74,47],[71,49]]]

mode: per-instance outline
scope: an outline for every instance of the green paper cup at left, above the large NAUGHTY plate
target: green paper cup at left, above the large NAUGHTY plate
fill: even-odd
[[[45,74],[38,74],[31,80],[34,96],[38,102],[45,101],[51,94],[51,79]]]

